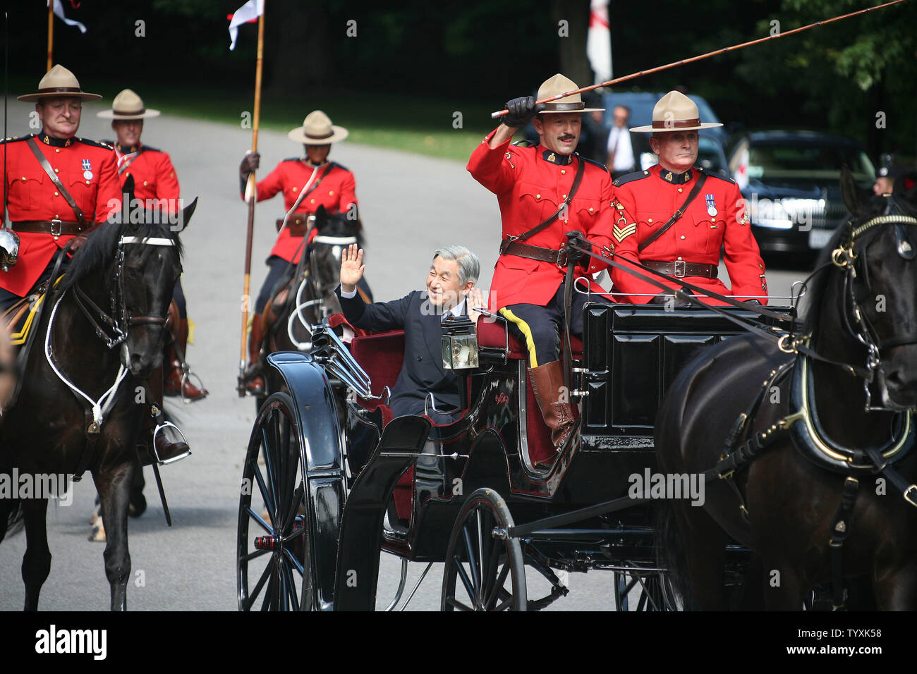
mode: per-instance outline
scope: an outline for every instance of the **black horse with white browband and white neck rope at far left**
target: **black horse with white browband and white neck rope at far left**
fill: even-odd
[[[195,203],[182,211],[188,223]],[[127,608],[130,555],[127,505],[139,434],[149,414],[149,373],[162,359],[182,244],[168,219],[147,212],[143,224],[105,223],[73,256],[47,293],[15,406],[0,425],[0,475],[73,475],[89,470],[107,528],[105,575],[112,610]],[[152,223],[152,224],[151,224]],[[149,459],[147,460],[149,462]],[[48,500],[0,500],[0,540],[24,522],[26,610],[37,610],[50,572]]]

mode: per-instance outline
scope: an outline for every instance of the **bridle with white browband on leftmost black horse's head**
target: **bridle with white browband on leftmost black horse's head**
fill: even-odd
[[[109,283],[108,300],[111,305],[111,315],[105,313],[93,300],[83,292],[79,284],[73,286],[77,306],[95,329],[95,334],[105,342],[108,348],[114,348],[125,339],[131,327],[134,326],[165,326],[168,318],[166,315],[127,315],[127,298],[124,292],[124,259],[125,245],[139,244],[144,246],[175,246],[175,240],[158,237],[131,237],[122,236],[118,239],[116,258],[113,263],[114,283]]]

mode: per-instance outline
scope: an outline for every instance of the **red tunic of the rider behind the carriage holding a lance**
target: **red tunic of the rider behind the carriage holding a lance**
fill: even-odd
[[[325,163],[319,167],[315,174],[315,182],[321,178],[322,182],[315,187],[315,182],[310,187],[312,190],[306,194],[296,213],[315,213],[318,206],[325,206],[328,213],[346,213],[350,204],[357,204],[357,183],[354,181],[353,173],[345,169],[334,161],[330,162],[331,169],[324,175],[329,164]],[[256,184],[258,191],[258,201],[270,199],[278,192],[283,193],[284,212],[289,211],[299,198],[299,191],[303,189],[315,166],[308,163],[307,160],[289,159],[282,160],[277,164],[277,168],[271,171]],[[310,240],[315,236],[315,231],[310,235]],[[298,262],[302,255],[296,255],[303,242],[301,237],[290,236],[290,230],[284,227],[274,242],[271,249],[271,255],[276,255],[288,262]],[[293,257],[295,256],[295,257]]]

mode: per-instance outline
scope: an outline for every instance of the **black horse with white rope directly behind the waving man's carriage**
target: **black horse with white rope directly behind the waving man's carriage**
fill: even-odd
[[[265,353],[308,350],[315,326],[341,311],[335,294],[340,283],[341,252],[354,243],[362,248],[362,225],[359,219],[350,219],[345,213],[330,215],[319,206],[313,227],[317,233],[309,255],[301,257],[268,304]],[[372,301],[369,286],[359,291],[367,302]],[[266,372],[265,381],[267,395],[280,390],[281,381],[273,372]]]

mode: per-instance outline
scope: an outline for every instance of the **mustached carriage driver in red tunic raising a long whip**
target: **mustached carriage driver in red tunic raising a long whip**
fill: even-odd
[[[557,74],[541,85],[538,98],[577,88]],[[582,113],[601,108],[587,108],[580,94],[540,109],[536,109],[535,101],[527,96],[506,104],[509,115],[472,152],[468,170],[497,195],[503,218],[503,245],[493,271],[491,304],[525,339],[532,390],[552,430],[554,445],[560,447],[570,435],[574,417],[558,360],[558,330],[563,328],[566,290],[566,252],[558,251],[566,242],[565,234],[579,230],[604,257],[611,257],[613,187],[611,174],[602,164],[574,151],[580,139]],[[514,133],[529,120],[534,120],[538,145],[510,145]],[[578,180],[579,185],[574,186]],[[545,227],[537,228],[546,222]],[[526,234],[533,229],[535,234]],[[580,264],[578,276],[587,278],[607,266],[588,257]],[[592,289],[602,292],[594,284]],[[574,292],[572,297],[570,332],[580,335],[584,295]],[[549,461],[553,456],[533,459]]]

